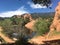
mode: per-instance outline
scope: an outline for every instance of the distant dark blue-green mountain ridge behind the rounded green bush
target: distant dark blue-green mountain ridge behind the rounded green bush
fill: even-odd
[[[49,12],[49,13],[31,13],[32,18],[36,19],[39,17],[42,18],[49,18],[49,17],[54,17],[55,12]]]

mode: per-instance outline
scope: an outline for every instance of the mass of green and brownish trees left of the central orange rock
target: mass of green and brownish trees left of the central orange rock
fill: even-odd
[[[0,21],[0,26],[3,27],[2,32],[10,37],[13,37],[12,36],[13,33],[17,33],[18,38],[23,36],[28,38],[29,29],[25,27],[25,24],[27,24],[28,22],[29,19],[27,18],[24,19],[22,17],[20,18],[11,17]]]

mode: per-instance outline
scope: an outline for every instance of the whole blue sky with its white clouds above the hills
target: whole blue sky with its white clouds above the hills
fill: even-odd
[[[52,0],[52,9],[39,4],[34,4],[32,0],[0,0],[0,17],[11,17],[24,13],[46,13],[55,12],[55,7],[60,0]]]

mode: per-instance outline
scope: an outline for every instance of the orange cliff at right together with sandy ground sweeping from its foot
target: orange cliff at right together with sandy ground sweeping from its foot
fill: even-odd
[[[29,40],[29,42],[39,45],[39,44],[44,44],[44,42],[46,43],[48,41],[51,42],[51,41],[59,40],[60,34],[52,35],[52,32],[54,30],[56,30],[57,32],[60,31],[60,2],[58,3],[57,7],[55,8],[55,16],[54,16],[54,19],[50,26],[50,32],[45,36],[34,37],[31,40]]]

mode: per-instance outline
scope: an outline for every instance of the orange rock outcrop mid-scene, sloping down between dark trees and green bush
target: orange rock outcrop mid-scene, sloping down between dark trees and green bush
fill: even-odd
[[[31,14],[25,14],[25,15],[24,15],[24,19],[25,19],[25,18],[29,19],[29,21],[30,21],[30,22],[28,22],[28,23],[25,25],[25,27],[28,28],[28,29],[30,29],[30,30],[32,30],[35,21],[32,19]]]

